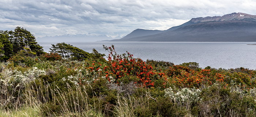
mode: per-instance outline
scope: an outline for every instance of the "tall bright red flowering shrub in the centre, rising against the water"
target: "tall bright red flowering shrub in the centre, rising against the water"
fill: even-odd
[[[114,46],[105,47],[104,48],[109,51],[107,66],[104,67],[104,71],[106,73],[106,78],[109,81],[114,81],[119,83],[124,76],[136,76],[139,81],[137,83],[141,83],[143,86],[154,86],[154,75],[153,68],[151,65],[146,64],[143,60],[137,58],[134,59],[133,55],[129,52],[124,53],[122,55],[118,55],[114,51]],[[113,79],[111,79],[113,78]]]

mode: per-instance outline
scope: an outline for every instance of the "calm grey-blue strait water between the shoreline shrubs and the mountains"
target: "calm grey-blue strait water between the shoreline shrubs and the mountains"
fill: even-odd
[[[38,43],[48,52],[56,43]],[[249,68],[256,69],[256,42],[87,42],[67,43],[92,52],[108,55],[102,45],[115,47],[118,54],[128,51],[142,60],[169,61],[174,64],[197,62],[201,68]]]

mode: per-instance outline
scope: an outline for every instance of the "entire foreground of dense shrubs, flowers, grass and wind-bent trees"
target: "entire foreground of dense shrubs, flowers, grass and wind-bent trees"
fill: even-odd
[[[113,45],[103,45],[107,60],[95,49],[65,43],[52,45],[52,53],[16,49],[6,32],[0,36],[0,116],[256,115],[256,70],[143,61],[117,54]]]

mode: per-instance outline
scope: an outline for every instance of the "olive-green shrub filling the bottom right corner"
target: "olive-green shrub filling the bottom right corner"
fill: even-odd
[[[253,116],[256,101],[240,87],[230,89],[214,84],[202,90],[201,116]]]

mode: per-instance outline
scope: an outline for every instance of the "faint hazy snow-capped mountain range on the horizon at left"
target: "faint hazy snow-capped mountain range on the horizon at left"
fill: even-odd
[[[87,34],[68,34],[61,36],[45,36],[38,37],[37,42],[89,42],[89,41],[102,41],[102,40],[113,40],[112,37],[106,35],[94,35],[91,33]]]

